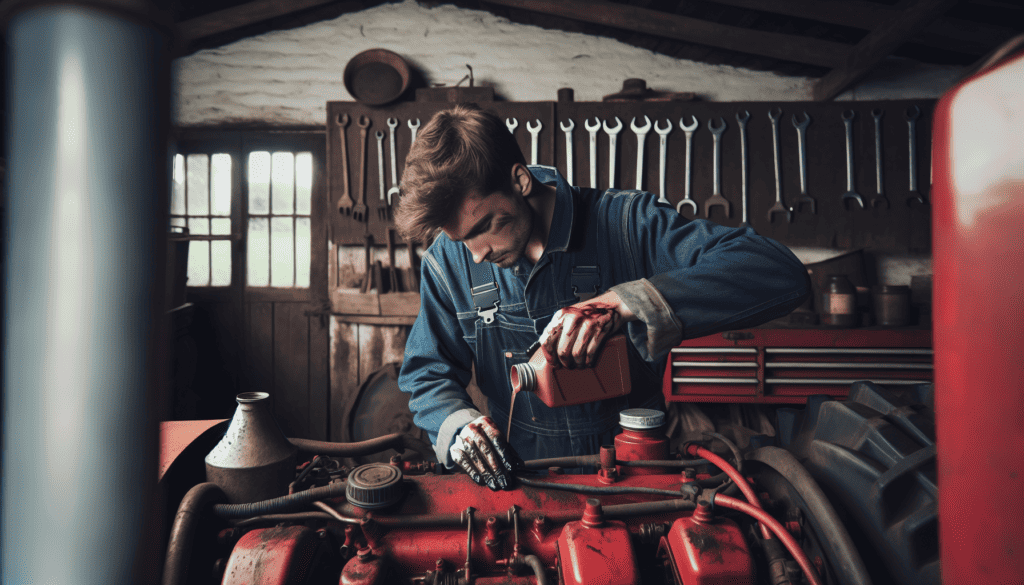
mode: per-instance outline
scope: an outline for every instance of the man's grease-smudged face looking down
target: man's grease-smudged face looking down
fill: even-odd
[[[517,194],[470,195],[444,235],[462,242],[474,262],[508,268],[519,261],[534,231],[534,209]]]

